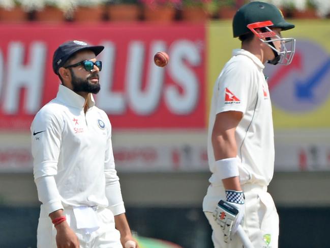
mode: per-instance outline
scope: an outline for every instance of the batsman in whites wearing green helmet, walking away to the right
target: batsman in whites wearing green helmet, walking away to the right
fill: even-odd
[[[293,27],[279,9],[262,2],[246,4],[233,18],[242,49],[233,51],[216,81],[208,126],[213,174],[203,211],[216,248],[243,247],[238,225],[255,248],[278,247],[279,218],[267,192],[274,172],[274,131],[263,64],[291,63],[295,40],[282,38],[281,31]],[[238,213],[226,210],[220,200]]]

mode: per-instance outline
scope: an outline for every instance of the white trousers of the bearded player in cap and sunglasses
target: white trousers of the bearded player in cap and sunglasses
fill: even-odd
[[[70,228],[76,233],[80,248],[123,248],[120,241],[120,233],[115,229],[114,216],[111,210],[99,208],[97,212],[100,228],[90,234],[76,228],[76,219],[72,208],[65,208],[64,214]],[[39,224],[37,229],[38,248],[57,248],[56,229],[44,209],[40,208]]]

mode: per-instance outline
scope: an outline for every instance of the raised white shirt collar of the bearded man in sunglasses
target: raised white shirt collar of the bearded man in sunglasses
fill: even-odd
[[[83,108],[85,104],[85,98],[64,85],[59,85],[56,98],[72,107]],[[88,94],[87,105],[88,108],[95,105],[95,100],[91,93]]]

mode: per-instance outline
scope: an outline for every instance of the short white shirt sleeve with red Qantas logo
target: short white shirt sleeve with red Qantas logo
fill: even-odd
[[[227,65],[217,80],[216,111],[245,113],[257,96],[253,68],[242,61]]]

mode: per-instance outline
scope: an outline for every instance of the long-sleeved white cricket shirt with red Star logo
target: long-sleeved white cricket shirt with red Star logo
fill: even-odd
[[[86,113],[84,103],[83,97],[59,85],[56,98],[35,116],[32,154],[39,200],[47,213],[63,206],[96,205],[109,207],[114,215],[124,213],[110,121],[92,94]]]

